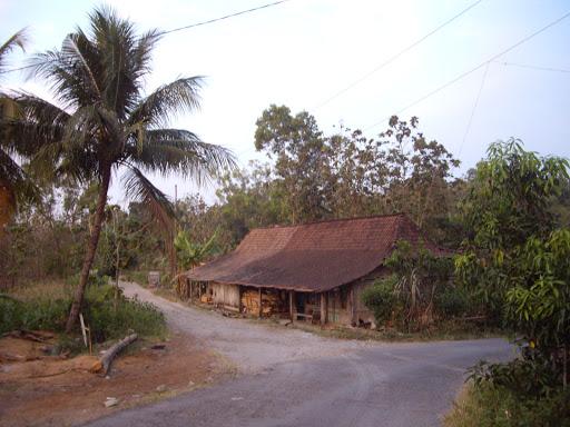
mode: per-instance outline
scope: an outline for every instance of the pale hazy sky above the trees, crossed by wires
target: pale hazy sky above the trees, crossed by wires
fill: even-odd
[[[146,31],[169,30],[267,2],[0,0],[0,40],[27,27],[26,54],[59,48],[77,26],[88,27],[88,12],[100,4],[114,7]],[[325,133],[343,123],[374,137],[391,115],[416,116],[425,137],[443,143],[462,161],[458,176],[484,157],[490,142],[510,137],[540,155],[570,157],[570,17],[415,103],[568,13],[568,0],[482,0],[372,72],[473,3],[289,0],[165,36],[155,50],[147,91],[178,77],[204,76],[200,110],[176,117],[171,125],[232,149],[243,167],[252,159],[266,159],[255,151],[254,132],[255,121],[272,103],[286,105],[293,113],[308,111]],[[11,66],[26,64],[26,54],[13,54]],[[52,99],[42,81],[27,80],[24,73],[4,75],[1,85]],[[177,186],[179,198],[199,192],[214,201],[214,185],[198,188],[177,176],[151,179],[170,197]],[[110,195],[114,202],[126,203],[119,177]]]

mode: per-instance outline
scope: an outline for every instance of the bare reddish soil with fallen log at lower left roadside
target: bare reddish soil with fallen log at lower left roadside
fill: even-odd
[[[88,371],[95,356],[41,356],[41,344],[0,339],[0,426],[73,426],[191,390],[227,371],[219,357],[187,336],[160,342],[164,349],[153,344],[139,342],[119,356],[105,378]],[[106,408],[107,397],[118,405]]]

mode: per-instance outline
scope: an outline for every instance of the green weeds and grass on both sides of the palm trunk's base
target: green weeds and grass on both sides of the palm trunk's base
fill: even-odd
[[[77,336],[63,334],[71,307],[73,280],[37,281],[10,289],[0,298],[0,334],[16,329],[51,330],[60,336],[61,348],[81,350]],[[140,338],[163,339],[166,319],[148,302],[116,297],[111,285],[89,285],[82,315],[95,344],[122,338],[135,331]]]

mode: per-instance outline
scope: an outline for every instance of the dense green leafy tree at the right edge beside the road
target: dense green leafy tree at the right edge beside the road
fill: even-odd
[[[479,389],[504,389],[515,407],[568,397],[570,230],[551,211],[568,186],[568,166],[515,140],[494,143],[463,202],[471,232],[456,258],[458,278],[521,346],[519,358],[481,363],[471,378]]]

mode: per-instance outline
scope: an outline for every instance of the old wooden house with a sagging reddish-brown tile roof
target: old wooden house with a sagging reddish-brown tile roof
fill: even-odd
[[[234,251],[186,272],[189,297],[258,316],[370,325],[361,294],[387,272],[397,240],[443,254],[404,215],[257,228]]]

